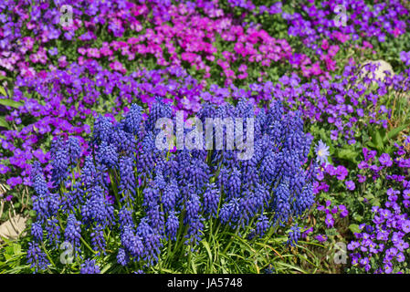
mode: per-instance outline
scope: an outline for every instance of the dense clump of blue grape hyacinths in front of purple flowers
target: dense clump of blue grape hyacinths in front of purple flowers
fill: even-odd
[[[254,119],[254,151],[247,160],[238,159],[239,150],[159,150],[160,118],[175,119],[160,99],[146,119],[138,105],[120,122],[98,117],[92,151],[84,158],[73,151],[75,140],[55,143],[52,163],[58,171],[51,190],[36,164],[37,221],[28,258],[38,269],[49,263],[37,246],[52,256],[60,253],[56,244],[68,242],[81,272],[98,272],[98,255],[114,256],[127,271],[143,270],[159,261],[169,242],[194,250],[211,221],[258,239],[294,224],[314,203],[312,137],[303,132],[300,113],[276,101],[268,109],[256,109],[247,99],[237,106],[205,104],[197,114],[204,124],[206,118]],[[298,237],[294,227],[290,241]]]

